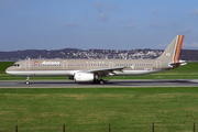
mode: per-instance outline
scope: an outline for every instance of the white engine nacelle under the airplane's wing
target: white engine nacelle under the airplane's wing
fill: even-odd
[[[94,81],[97,76],[91,73],[76,73],[74,79],[75,81]]]

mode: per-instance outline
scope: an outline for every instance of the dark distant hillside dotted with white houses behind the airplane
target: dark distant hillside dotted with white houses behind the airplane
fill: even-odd
[[[80,58],[80,59],[140,59],[140,58],[156,58],[163,53],[162,50],[25,50],[0,52],[0,61],[19,61],[25,58]],[[180,59],[198,61],[197,50],[182,50]]]

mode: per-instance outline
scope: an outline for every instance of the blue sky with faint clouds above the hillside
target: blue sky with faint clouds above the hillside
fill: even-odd
[[[0,51],[198,50],[198,0],[0,0]]]

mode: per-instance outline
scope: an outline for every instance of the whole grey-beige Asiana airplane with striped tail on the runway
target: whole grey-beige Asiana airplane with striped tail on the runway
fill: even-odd
[[[146,75],[186,65],[179,61],[184,35],[177,35],[163,54],[155,59],[24,59],[13,64],[6,73],[14,76],[68,76],[76,82],[105,84],[102,77]]]

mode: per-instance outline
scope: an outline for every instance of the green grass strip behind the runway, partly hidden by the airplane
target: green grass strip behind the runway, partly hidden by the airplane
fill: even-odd
[[[25,80],[25,77],[7,75],[6,68],[11,66],[12,62],[0,62],[0,80]],[[51,79],[68,79],[68,77],[31,77],[31,80],[51,80]],[[143,76],[112,76],[103,79],[198,79],[198,63],[188,63],[185,66]]]

